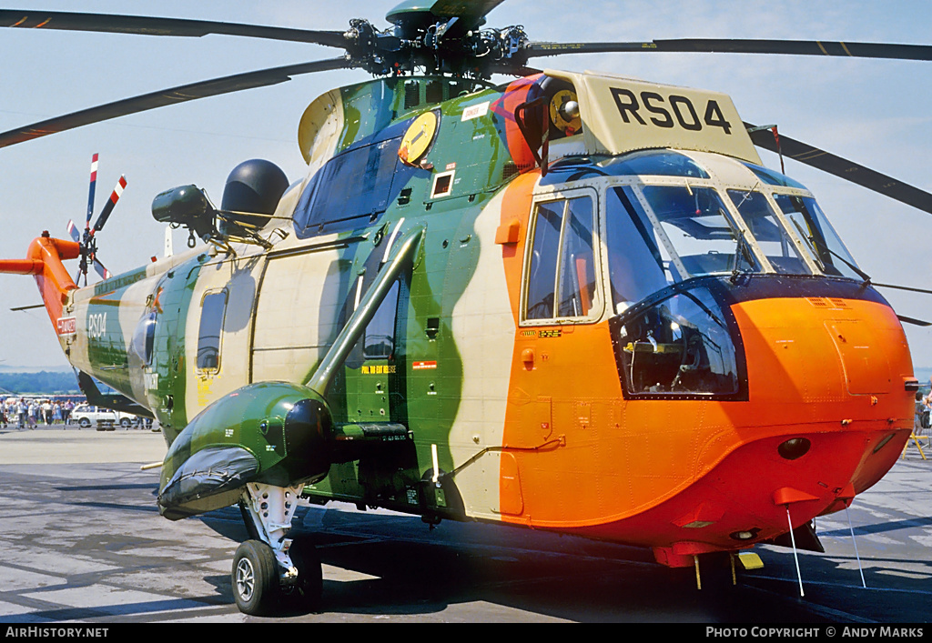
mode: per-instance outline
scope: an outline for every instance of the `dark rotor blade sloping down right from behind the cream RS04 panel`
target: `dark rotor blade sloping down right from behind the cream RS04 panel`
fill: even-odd
[[[745,127],[748,130],[755,129],[755,126],[749,123],[745,123]],[[834,174],[846,181],[882,194],[884,197],[895,198],[901,203],[906,203],[913,208],[932,214],[932,194],[918,187],[902,183],[886,174],[881,174],[879,171],[865,168],[863,165],[858,165],[847,158],[829,154],[829,152],[818,147],[791,139],[782,132],[780,132],[779,149],[774,140],[774,133],[771,130],[751,131],[750,137],[751,141],[758,147],[783,154],[785,157],[798,160],[816,168],[816,170],[829,172],[829,174]]]

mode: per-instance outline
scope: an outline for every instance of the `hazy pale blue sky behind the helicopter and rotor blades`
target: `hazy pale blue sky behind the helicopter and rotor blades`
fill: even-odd
[[[159,15],[308,29],[345,29],[364,17],[377,27],[393,1],[48,0],[15,8]],[[531,40],[786,38],[932,44],[932,3],[567,3],[508,0],[489,24],[522,24]],[[333,49],[248,38],[157,38],[40,30],[0,33],[0,130],[120,98],[220,75],[330,58]],[[726,54],[615,54],[540,59],[539,66],[593,69],[714,89],[732,96],[745,120],[777,123],[788,136],[932,191],[932,62]],[[166,107],[0,149],[0,256],[20,257],[43,229],[64,236],[83,216],[91,154],[100,153],[97,209],[121,173],[129,181],[101,236],[114,272],[161,253],[163,231],[152,198],[196,184],[219,201],[226,175],[262,157],[290,181],[302,177],[296,144],[304,108],[327,89],[358,82],[361,71],[299,77],[279,86]],[[504,80],[505,78],[500,78]],[[761,153],[779,168],[776,157]],[[787,162],[829,214],[859,265],[874,280],[929,288],[932,215],[834,177]],[[176,235],[176,247],[185,237]],[[932,295],[884,291],[899,313],[932,321]],[[8,308],[38,301],[32,280],[0,279],[0,365],[67,365],[42,310]],[[932,330],[908,326],[917,366],[932,365]]]

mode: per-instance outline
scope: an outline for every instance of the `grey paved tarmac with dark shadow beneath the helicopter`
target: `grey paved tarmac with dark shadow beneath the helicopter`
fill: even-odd
[[[925,442],[923,443],[925,447]],[[299,508],[323,561],[318,611],[241,614],[229,586],[239,510],[158,515],[160,433],[0,429],[0,623],[927,623],[932,449],[915,445],[844,512],[826,554],[758,547],[764,568],[668,569],[649,551],[514,527]],[[856,539],[852,540],[851,531]],[[856,552],[857,545],[857,552]],[[860,557],[860,568],[857,557]],[[863,577],[863,581],[862,581]],[[864,586],[866,585],[866,587]],[[867,626],[867,625],[865,625]],[[6,627],[6,625],[4,626]],[[0,628],[0,632],[4,628]],[[923,629],[929,636],[930,628]],[[697,628],[696,634],[705,634]]]

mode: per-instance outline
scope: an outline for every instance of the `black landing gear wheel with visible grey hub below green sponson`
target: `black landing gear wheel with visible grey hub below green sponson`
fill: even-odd
[[[278,606],[279,566],[265,542],[246,540],[240,544],[230,576],[233,597],[244,614],[264,616]]]

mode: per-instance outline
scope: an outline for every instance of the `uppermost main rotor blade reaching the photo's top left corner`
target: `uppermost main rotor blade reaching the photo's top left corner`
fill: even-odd
[[[105,13],[0,9],[0,27],[188,37],[200,37],[207,34],[242,35],[250,38],[291,40],[346,48],[346,37],[343,32],[263,27],[234,22],[190,21],[178,18],[118,16]]]

